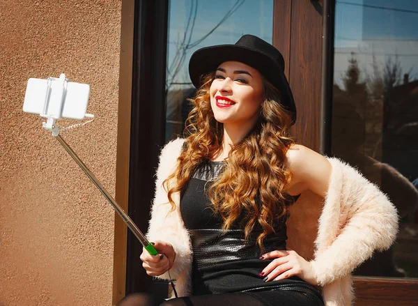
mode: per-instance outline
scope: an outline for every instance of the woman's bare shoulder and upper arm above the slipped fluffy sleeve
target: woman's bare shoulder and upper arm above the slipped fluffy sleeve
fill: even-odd
[[[286,152],[284,165],[292,174],[290,189],[311,190],[321,195],[327,190],[332,166],[325,156],[301,144],[293,144]]]

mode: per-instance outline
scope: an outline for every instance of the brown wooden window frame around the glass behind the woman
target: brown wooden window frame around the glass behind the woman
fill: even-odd
[[[297,84],[295,100],[303,101],[297,105],[298,116],[306,118],[297,121],[292,133],[298,142],[320,153],[330,153],[332,69],[324,59],[330,61],[334,26],[332,18],[323,18],[323,10],[333,17],[334,5],[334,0],[274,0],[273,45],[288,63],[289,83]],[[148,227],[157,156],[164,145],[168,8],[168,0],[122,1],[116,201],[128,208],[143,231]],[[303,74],[298,71],[301,65]],[[328,121],[321,125],[324,118]],[[152,285],[141,268],[142,247],[118,216],[114,245],[114,304],[127,293],[167,292],[164,284]],[[415,305],[418,301],[418,279],[354,277],[354,286],[357,305]]]

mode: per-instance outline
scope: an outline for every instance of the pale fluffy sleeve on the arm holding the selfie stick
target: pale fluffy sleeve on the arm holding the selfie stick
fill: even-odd
[[[177,158],[183,146],[184,139],[176,139],[169,142],[162,149],[160,164],[157,169],[155,181],[155,198],[151,208],[150,225],[148,227],[148,239],[150,241],[162,240],[173,245],[176,259],[170,269],[172,279],[178,279],[180,275],[191,266],[192,251],[189,242],[189,234],[185,229],[180,215],[180,208],[176,206],[171,212],[171,204],[162,183],[174,171]],[[180,201],[179,194],[173,194],[173,200]],[[164,273],[158,278],[169,280],[169,274]]]

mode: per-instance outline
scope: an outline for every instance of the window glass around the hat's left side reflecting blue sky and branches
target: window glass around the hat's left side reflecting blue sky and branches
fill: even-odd
[[[176,0],[169,5],[166,141],[180,135],[196,90],[188,63],[196,49],[234,44],[253,34],[272,43],[272,0]]]

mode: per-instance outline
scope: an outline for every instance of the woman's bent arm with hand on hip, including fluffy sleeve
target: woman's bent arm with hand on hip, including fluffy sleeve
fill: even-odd
[[[310,190],[325,201],[315,259],[308,262],[294,251],[264,254],[275,258],[263,270],[268,281],[296,275],[314,285],[328,284],[350,274],[374,250],[392,245],[398,226],[396,208],[357,170],[304,146],[291,148],[287,158],[293,174],[289,192]]]

